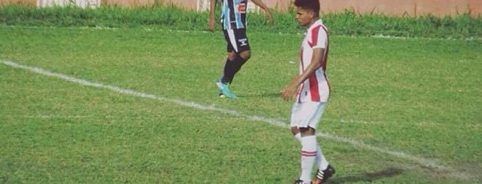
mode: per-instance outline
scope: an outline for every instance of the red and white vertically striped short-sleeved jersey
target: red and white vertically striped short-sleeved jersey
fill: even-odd
[[[313,49],[324,48],[325,53],[321,62],[321,67],[306,79],[300,87],[297,94],[298,102],[327,102],[330,97],[330,83],[326,76],[326,62],[328,59],[328,30],[323,25],[323,21],[318,20],[314,22],[305,34],[303,43],[301,43],[300,51],[300,74],[308,68],[308,65],[312,62]]]

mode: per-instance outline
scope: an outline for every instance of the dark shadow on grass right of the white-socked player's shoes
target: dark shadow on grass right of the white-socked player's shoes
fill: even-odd
[[[388,168],[378,172],[365,172],[364,174],[357,174],[354,176],[345,176],[341,178],[332,178],[327,181],[327,183],[353,183],[353,182],[373,182],[378,179],[389,178],[392,176],[399,175],[403,170],[399,168]]]

